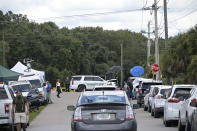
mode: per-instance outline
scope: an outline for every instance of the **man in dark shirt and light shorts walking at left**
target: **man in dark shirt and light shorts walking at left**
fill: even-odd
[[[16,92],[16,97],[12,103],[12,117],[16,123],[17,131],[21,131],[21,124],[23,131],[26,131],[27,117],[29,115],[29,104],[20,91]]]

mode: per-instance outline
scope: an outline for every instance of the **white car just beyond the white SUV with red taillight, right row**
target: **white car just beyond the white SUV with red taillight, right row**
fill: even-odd
[[[172,86],[157,85],[153,89],[151,103],[151,115],[155,118],[163,113],[167,95],[171,91]]]

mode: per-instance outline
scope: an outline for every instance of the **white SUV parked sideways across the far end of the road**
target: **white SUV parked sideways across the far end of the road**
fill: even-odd
[[[84,90],[93,90],[95,86],[107,85],[107,83],[107,81],[99,76],[77,75],[72,76],[70,89],[82,92]]]

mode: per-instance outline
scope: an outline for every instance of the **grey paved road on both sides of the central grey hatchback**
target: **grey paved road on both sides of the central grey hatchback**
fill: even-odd
[[[48,105],[30,124],[27,131],[70,131],[72,112],[66,110],[67,105],[75,104],[78,93],[63,93],[61,98],[53,96],[54,104]],[[135,110],[138,131],[177,131],[176,127],[166,128],[161,119],[155,119],[142,109]]]

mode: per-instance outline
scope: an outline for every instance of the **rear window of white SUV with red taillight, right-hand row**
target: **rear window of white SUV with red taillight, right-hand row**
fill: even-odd
[[[178,98],[180,101],[190,96],[191,88],[176,88],[172,97]]]

